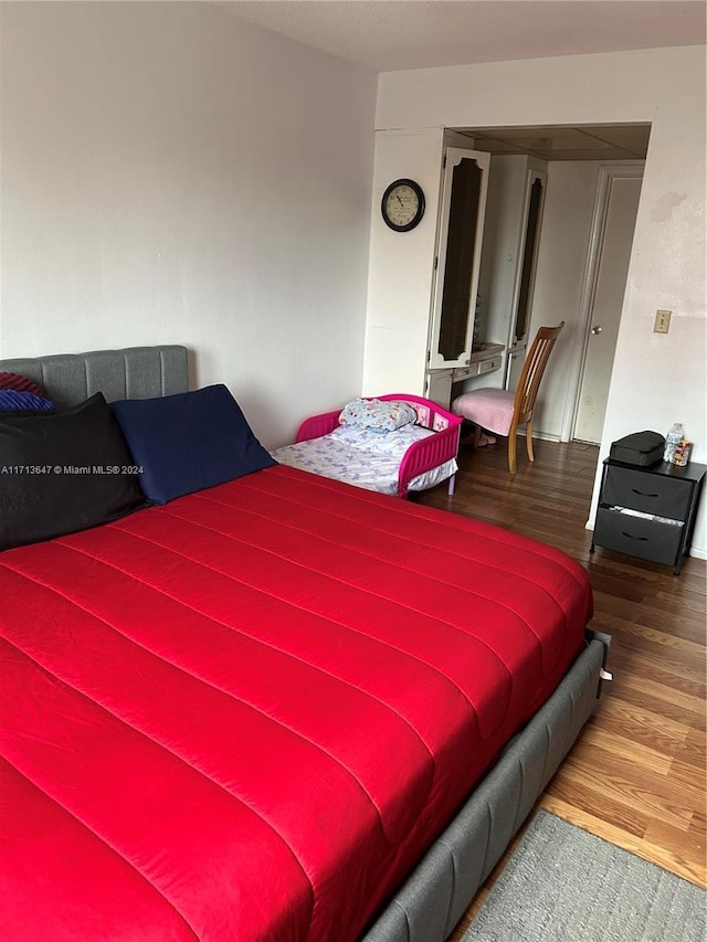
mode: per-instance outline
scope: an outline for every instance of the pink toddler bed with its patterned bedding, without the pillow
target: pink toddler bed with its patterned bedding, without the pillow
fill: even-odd
[[[273,452],[279,463],[336,480],[407,497],[449,480],[454,493],[462,420],[429,399],[408,393],[377,396],[384,403],[403,402],[416,412],[416,422],[377,434],[370,428],[340,426],[341,410],[306,419],[294,445]]]

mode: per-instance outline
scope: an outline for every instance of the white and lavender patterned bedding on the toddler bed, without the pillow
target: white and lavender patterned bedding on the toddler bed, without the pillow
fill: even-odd
[[[386,435],[370,428],[341,425],[319,438],[277,448],[272,455],[289,467],[394,495],[399,489],[400,464],[408,448],[435,434],[419,425],[404,425]],[[416,475],[408,489],[426,490],[446,480],[457,468],[456,459],[452,458]]]

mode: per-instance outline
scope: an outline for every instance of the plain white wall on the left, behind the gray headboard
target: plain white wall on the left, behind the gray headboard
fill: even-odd
[[[376,75],[208,3],[0,10],[0,356],[186,343],[267,445],[360,394]]]

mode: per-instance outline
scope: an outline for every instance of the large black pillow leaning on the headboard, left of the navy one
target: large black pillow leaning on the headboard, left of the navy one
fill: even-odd
[[[0,550],[144,507],[134,459],[103,393],[63,412],[0,415]]]

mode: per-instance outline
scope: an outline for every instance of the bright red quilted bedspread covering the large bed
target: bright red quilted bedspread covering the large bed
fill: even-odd
[[[354,939],[590,615],[562,553],[285,467],[0,553],[0,938]]]

